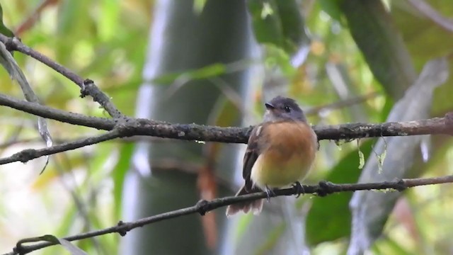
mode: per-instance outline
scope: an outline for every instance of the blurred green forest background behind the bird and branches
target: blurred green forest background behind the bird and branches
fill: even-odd
[[[449,0],[2,1],[33,49],[90,78],[126,115],[219,126],[258,123],[295,98],[314,125],[452,111]],[[108,118],[44,64],[14,54],[46,106]],[[449,65],[448,65],[449,64]],[[423,72],[422,72],[423,71]],[[0,70],[1,93],[23,98]],[[42,148],[35,116],[1,107],[0,156]],[[48,120],[55,143],[101,131]],[[130,137],[0,166],[0,253],[19,239],[102,229],[232,196],[245,145]],[[453,174],[446,136],[321,141],[306,183]],[[452,254],[451,185],[404,193],[275,198],[259,217],[225,208],[74,242],[88,254]],[[33,254],[64,254],[62,247]]]

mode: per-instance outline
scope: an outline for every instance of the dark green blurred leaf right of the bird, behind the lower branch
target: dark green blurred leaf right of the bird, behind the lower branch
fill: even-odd
[[[365,155],[371,152],[372,141],[364,142],[359,150],[350,152],[333,167],[326,176],[333,183],[355,183],[360,176],[360,157],[357,151]],[[314,198],[313,205],[306,217],[306,238],[310,245],[333,241],[350,234],[351,215],[349,201],[352,193],[338,193],[325,198]]]

